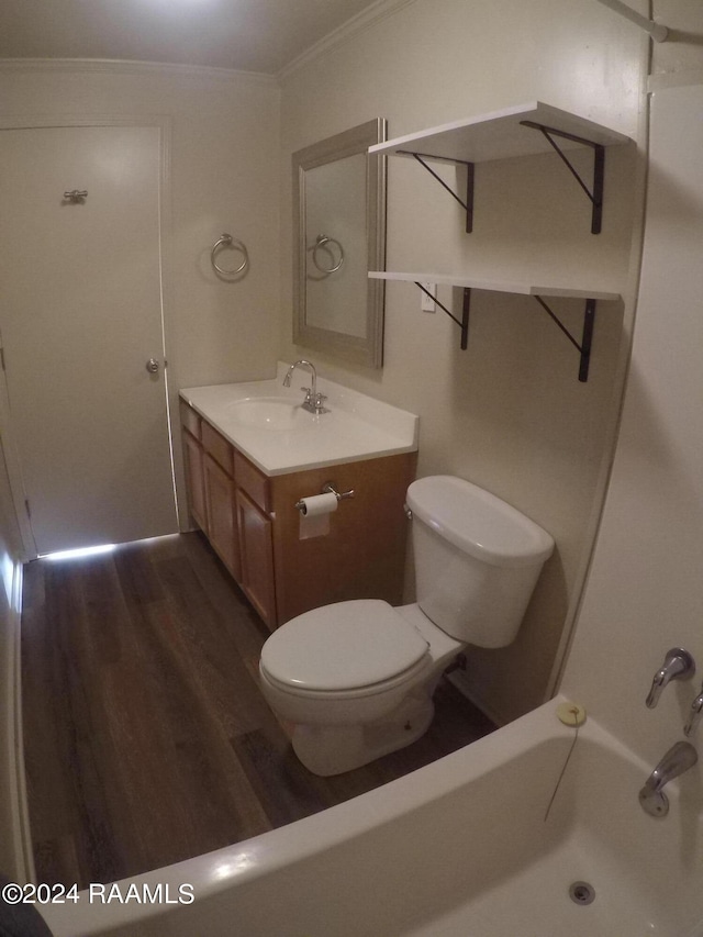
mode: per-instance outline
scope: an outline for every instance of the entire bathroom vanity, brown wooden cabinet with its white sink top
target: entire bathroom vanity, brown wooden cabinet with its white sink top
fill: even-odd
[[[402,601],[405,491],[417,417],[320,379],[328,413],[302,410],[295,375],[180,392],[190,515],[269,628],[347,599]],[[332,482],[354,497],[305,517]]]

